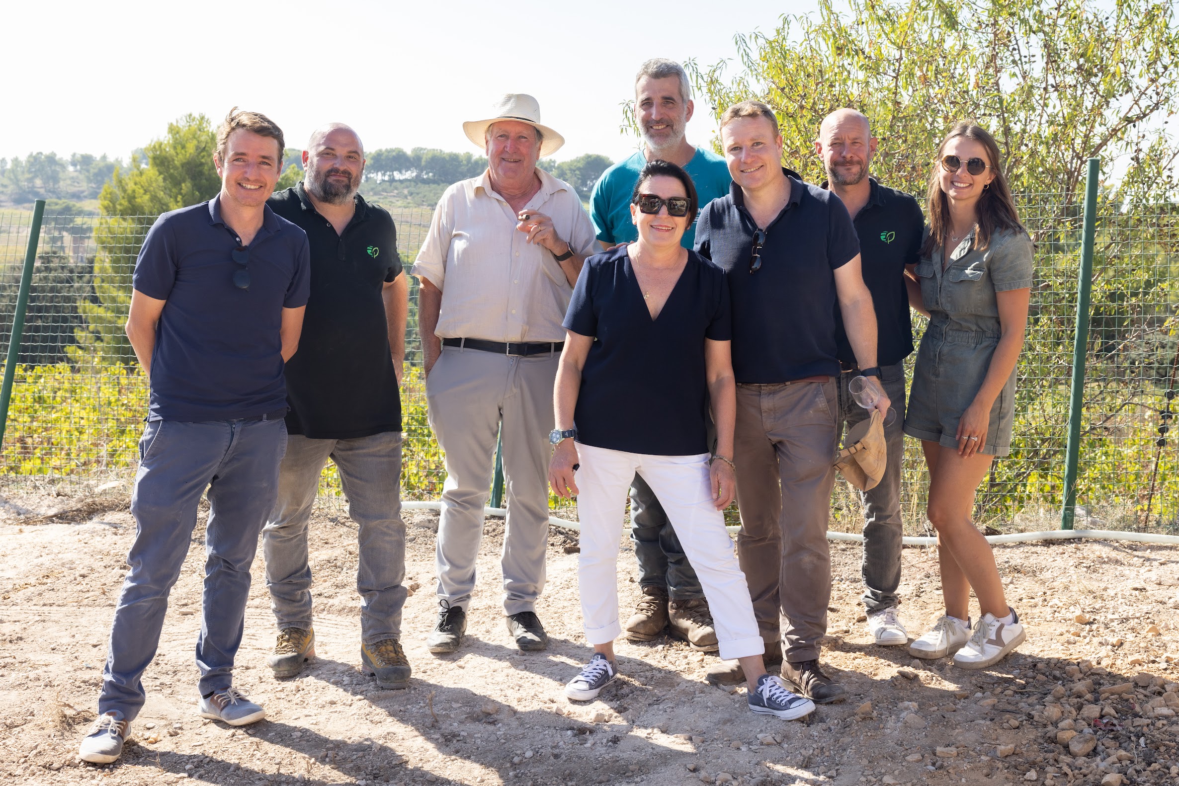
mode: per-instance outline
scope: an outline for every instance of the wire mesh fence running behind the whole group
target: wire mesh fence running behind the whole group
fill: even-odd
[[[981,522],[1003,530],[1054,528],[1059,522],[1081,242],[1080,205],[1066,204],[1061,194],[1016,199],[1036,244],[1036,278],[1017,369],[1012,454],[994,463],[976,510]],[[390,212],[408,267],[430,211]],[[26,211],[0,212],[0,357],[7,351],[31,218]],[[154,219],[45,217],[0,474],[103,482],[133,470],[147,390],[123,323],[136,256]],[[1179,303],[1172,285],[1177,266],[1179,206],[1100,204],[1079,528],[1179,531],[1179,455],[1174,441],[1166,438],[1179,362]],[[416,295],[417,283],[410,278],[402,490],[407,500],[436,500],[446,470],[427,422]],[[918,336],[923,326],[917,319]],[[920,443],[907,440],[902,514],[909,533],[926,528],[926,489]],[[329,464],[322,502],[340,506],[341,494]],[[552,504],[555,515],[574,516],[555,498]],[[730,521],[736,523],[737,515],[731,509]],[[839,481],[831,527],[856,531],[861,526],[858,494]]]

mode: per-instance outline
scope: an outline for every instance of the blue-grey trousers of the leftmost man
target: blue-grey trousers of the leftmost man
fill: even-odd
[[[232,685],[242,643],[250,564],[258,533],[275,506],[278,463],[286,449],[282,417],[182,423],[152,421],[139,440],[139,470],[131,495],[136,540],[130,573],[114,607],[110,655],[98,712],[133,720],[145,694],[140,678],[156,656],[167,595],[180,575],[197,524],[197,503],[209,489],[205,582],[197,668],[202,695]]]

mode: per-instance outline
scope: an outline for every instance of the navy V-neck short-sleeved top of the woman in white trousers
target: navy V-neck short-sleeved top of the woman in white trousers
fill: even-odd
[[[565,329],[593,336],[573,412],[578,442],[656,456],[709,451],[704,339],[729,341],[724,272],[694,251],[651,318],[626,246],[586,259]]]

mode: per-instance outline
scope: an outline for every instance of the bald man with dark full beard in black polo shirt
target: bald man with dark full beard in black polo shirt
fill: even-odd
[[[275,194],[276,213],[311,245],[311,297],[298,359],[286,365],[286,456],[278,502],[263,530],[266,587],[278,623],[269,659],[291,676],[315,655],[307,524],[330,457],[357,524],[361,663],[377,685],[404,688],[409,662],[399,640],[406,602],[401,521],[401,399],[406,276],[393,218],[356,193],[364,148],[345,125],[315,131],[303,181]]]

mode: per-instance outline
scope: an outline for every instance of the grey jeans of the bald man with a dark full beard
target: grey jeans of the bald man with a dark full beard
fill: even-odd
[[[311,628],[311,567],[307,526],[331,458],[356,522],[361,638],[365,643],[401,635],[406,605],[406,524],[401,520],[401,432],[354,440],[286,438],[278,474],[278,501],[262,530],[266,588],[278,629]]]

